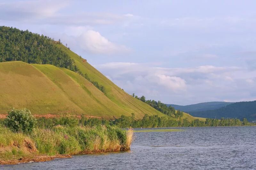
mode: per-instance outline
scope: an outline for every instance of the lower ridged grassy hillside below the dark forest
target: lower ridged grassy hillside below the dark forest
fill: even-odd
[[[151,112],[139,105],[137,110],[130,109],[129,112],[82,76],[49,64],[0,63],[0,88],[1,114],[6,114],[10,107],[28,107],[35,114],[70,113],[107,118],[130,116],[131,113],[138,118],[144,113],[163,116],[148,105],[146,108],[149,107]]]

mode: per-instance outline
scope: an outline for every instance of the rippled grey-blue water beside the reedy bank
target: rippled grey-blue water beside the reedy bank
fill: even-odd
[[[137,132],[131,151],[76,155],[0,169],[256,169],[256,127]]]

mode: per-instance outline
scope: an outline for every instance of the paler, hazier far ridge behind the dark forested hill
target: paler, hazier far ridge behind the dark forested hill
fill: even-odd
[[[181,111],[190,113],[190,112],[198,112],[198,111],[205,111],[205,110],[214,110],[220,107],[227,106],[229,104],[232,104],[232,103],[222,102],[222,101],[213,101],[213,102],[197,103],[197,104],[186,105],[186,106],[173,105],[173,104],[166,104],[166,105],[172,106],[176,110],[181,110]]]

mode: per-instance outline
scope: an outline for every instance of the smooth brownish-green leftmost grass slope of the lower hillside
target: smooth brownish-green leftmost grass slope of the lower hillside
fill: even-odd
[[[57,85],[28,63],[0,63],[0,89],[1,114],[10,107],[27,107],[35,114],[82,112]]]

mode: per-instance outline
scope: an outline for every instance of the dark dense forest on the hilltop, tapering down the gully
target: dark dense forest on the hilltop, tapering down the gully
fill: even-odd
[[[80,74],[106,95],[105,88],[91,80],[75,65],[70,56],[58,48],[54,39],[17,28],[0,26],[0,62],[23,61],[30,64],[51,64]],[[57,41],[61,43],[60,40]],[[69,48],[68,48],[69,49]]]

